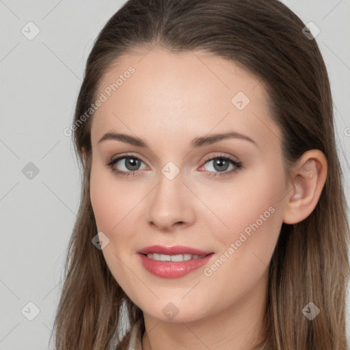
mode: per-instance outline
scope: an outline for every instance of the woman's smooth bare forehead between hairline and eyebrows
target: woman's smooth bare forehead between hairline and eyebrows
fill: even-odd
[[[279,144],[265,87],[239,64],[200,51],[170,53],[160,48],[122,55],[101,79],[92,144],[109,131],[133,133],[168,143],[234,130]]]

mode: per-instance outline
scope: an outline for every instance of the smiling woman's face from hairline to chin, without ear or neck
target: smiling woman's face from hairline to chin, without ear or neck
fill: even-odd
[[[118,284],[164,321],[254,310],[293,196],[260,79],[226,59],[156,47],[122,56],[97,98],[90,195]],[[127,137],[101,140],[107,133]],[[162,262],[139,253],[152,245],[211,254]]]

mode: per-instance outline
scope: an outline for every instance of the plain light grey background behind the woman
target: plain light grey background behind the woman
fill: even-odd
[[[0,349],[48,349],[80,191],[72,144],[63,131],[72,122],[93,41],[122,3],[0,0]],[[304,23],[321,29],[316,40],[332,83],[345,164],[350,154],[350,2],[284,3]],[[33,40],[21,32],[29,21],[40,29]],[[22,172],[29,162],[39,170],[31,180]],[[344,171],[349,201],[347,165]],[[35,312],[29,301],[40,310],[33,321],[23,315]]]

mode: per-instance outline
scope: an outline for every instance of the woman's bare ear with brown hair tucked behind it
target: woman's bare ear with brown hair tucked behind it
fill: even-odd
[[[283,222],[297,224],[314,210],[327,178],[327,159],[321,150],[308,150],[293,170],[294,191],[284,208]]]

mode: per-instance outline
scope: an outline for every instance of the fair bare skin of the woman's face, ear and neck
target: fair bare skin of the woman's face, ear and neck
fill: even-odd
[[[144,312],[142,349],[254,349],[263,339],[268,267],[280,228],[313,211],[327,175],[325,157],[319,150],[306,152],[292,169],[292,181],[286,178],[281,133],[265,87],[234,62],[199,51],[139,49],[107,72],[99,92],[129,66],[133,75],[94,113],[90,196],[98,232],[109,238],[103,249],[107,265]],[[250,98],[242,110],[231,103],[237,92]],[[111,131],[140,137],[148,147],[98,143]],[[256,145],[231,138],[191,148],[196,137],[227,131]],[[130,170],[123,159],[113,167],[137,176],[119,176],[106,166],[124,154],[142,161],[139,170]],[[220,172],[213,161],[205,163],[219,154],[243,167],[229,174],[234,165]],[[180,170],[173,180],[161,172],[169,161]],[[204,275],[271,206],[273,214]],[[215,254],[203,268],[165,279],[146,271],[136,253],[154,244]],[[162,312],[170,302],[179,311],[172,320]]]

